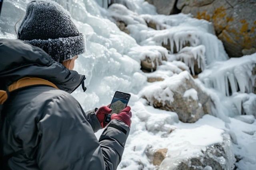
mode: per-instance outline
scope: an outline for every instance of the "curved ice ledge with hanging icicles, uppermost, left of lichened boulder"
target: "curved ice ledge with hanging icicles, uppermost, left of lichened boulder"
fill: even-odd
[[[142,38],[141,45],[168,45],[170,50],[174,53],[174,46],[177,51],[180,51],[186,43],[190,46],[205,46],[206,63],[209,65],[214,61],[223,61],[228,59],[222,42],[218,38],[208,32],[198,30],[192,26],[173,26],[166,30],[149,30],[140,31]],[[141,39],[142,39],[141,38]]]

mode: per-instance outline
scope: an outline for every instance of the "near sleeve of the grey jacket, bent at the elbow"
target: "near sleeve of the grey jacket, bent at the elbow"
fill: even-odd
[[[114,120],[98,141],[79,103],[69,94],[50,101],[37,126],[37,162],[42,170],[115,170],[130,130]]]

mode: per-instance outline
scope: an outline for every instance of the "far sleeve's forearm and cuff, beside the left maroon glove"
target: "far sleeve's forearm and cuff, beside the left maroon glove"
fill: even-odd
[[[93,132],[98,132],[98,130],[102,129],[100,122],[98,121],[98,118],[96,117],[96,110],[98,108],[92,109],[90,111],[87,111],[86,113],[84,113],[84,111],[82,110],[82,112],[84,113],[84,117],[86,118],[86,120],[88,121],[88,123],[90,123]]]

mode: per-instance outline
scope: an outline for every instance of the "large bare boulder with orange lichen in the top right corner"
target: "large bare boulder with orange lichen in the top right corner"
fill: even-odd
[[[176,6],[182,13],[212,22],[230,57],[256,52],[255,0],[178,0]]]

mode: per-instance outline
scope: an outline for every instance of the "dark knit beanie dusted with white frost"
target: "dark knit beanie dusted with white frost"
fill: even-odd
[[[42,48],[62,63],[85,51],[85,37],[78,31],[70,14],[52,0],[34,0],[18,30],[18,39]]]

